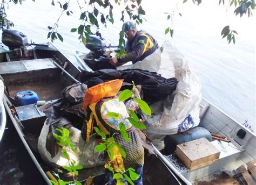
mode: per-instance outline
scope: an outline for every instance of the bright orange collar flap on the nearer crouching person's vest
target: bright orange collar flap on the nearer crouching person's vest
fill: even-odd
[[[116,96],[122,87],[123,81],[123,79],[111,80],[87,89],[84,96],[84,111],[87,109],[87,106],[93,102],[98,102],[103,98]]]

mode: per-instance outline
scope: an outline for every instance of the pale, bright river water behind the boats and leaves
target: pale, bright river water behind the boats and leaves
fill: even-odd
[[[58,19],[61,9],[48,1],[27,1],[23,5],[9,3],[7,15],[14,22],[14,29],[22,31],[28,39],[45,42],[48,26]],[[61,2],[61,1],[60,1]],[[179,2],[177,4],[177,2]],[[159,42],[169,39],[190,62],[199,76],[203,96],[233,117],[238,122],[255,128],[255,17],[234,17],[233,9],[218,5],[218,1],[203,2],[199,6],[183,1],[144,1],[146,21],[138,29],[150,32]],[[83,1],[80,1],[84,5]],[[86,6],[87,7],[87,6]],[[70,1],[73,15],[60,18],[59,33],[64,42],[54,44],[73,60],[73,52],[87,52],[79,43],[77,33],[70,33],[80,24],[80,10],[77,1]],[[114,11],[117,19],[113,25],[100,29],[102,36],[112,45],[118,44],[122,22],[119,21],[121,6]],[[165,12],[174,12],[173,22],[167,20]],[[118,14],[119,13],[119,14]],[[181,16],[178,15],[181,13]],[[255,13],[255,12],[254,12]],[[220,33],[228,23],[238,32],[236,43],[228,45]],[[173,39],[165,35],[166,27],[174,29]]]

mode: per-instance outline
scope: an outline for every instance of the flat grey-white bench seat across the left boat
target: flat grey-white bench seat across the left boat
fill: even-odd
[[[53,59],[34,59],[0,63],[0,75],[30,72],[33,70],[57,68]]]

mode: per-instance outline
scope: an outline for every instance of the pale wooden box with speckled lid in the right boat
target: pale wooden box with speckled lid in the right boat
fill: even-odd
[[[176,155],[188,169],[194,170],[217,161],[220,151],[206,138],[200,138],[177,145]]]

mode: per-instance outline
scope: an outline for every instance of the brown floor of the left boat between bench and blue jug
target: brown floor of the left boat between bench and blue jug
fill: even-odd
[[[62,97],[60,93],[65,86],[59,83],[57,80],[40,81],[35,86],[35,82],[27,82],[25,84],[9,85],[8,91],[10,97],[14,98],[15,94],[25,90],[32,90],[38,95],[39,100],[50,101],[52,99],[58,99]]]

